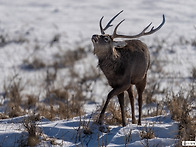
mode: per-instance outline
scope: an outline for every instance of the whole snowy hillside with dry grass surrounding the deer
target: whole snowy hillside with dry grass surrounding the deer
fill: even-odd
[[[196,117],[195,8],[195,0],[0,0],[0,146],[175,146],[181,121],[171,110],[182,106],[181,117]],[[125,19],[121,34],[137,34],[150,22],[157,27],[163,14],[166,23],[140,38],[151,54],[142,125],[131,117],[125,127],[108,120],[101,132],[96,118],[111,88],[91,37],[100,34],[102,16],[106,24],[121,10],[113,22]],[[137,117],[137,100],[135,110]]]

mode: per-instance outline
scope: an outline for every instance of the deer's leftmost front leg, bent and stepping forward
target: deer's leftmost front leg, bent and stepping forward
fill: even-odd
[[[101,125],[103,124],[103,118],[104,118],[104,113],[106,111],[106,108],[109,104],[109,101],[110,99],[115,96],[115,95],[119,95],[120,93],[126,91],[127,89],[129,88],[129,85],[124,85],[124,86],[121,86],[121,87],[117,87],[117,88],[114,88],[112,91],[109,92],[108,96],[107,96],[107,100],[105,102],[105,105],[100,113],[100,116],[99,116],[99,119],[98,119],[98,123]]]

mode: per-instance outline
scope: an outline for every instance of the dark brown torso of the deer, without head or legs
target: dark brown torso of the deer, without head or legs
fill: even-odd
[[[99,67],[112,88],[124,83],[137,84],[147,73],[150,55],[147,46],[139,40],[127,40],[123,48],[116,48],[118,57],[113,57],[112,48],[104,57],[98,57]]]

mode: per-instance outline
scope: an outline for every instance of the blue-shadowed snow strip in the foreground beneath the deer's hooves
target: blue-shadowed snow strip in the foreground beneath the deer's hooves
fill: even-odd
[[[178,125],[176,122],[171,120],[171,117],[168,116],[156,116],[152,118],[145,118],[142,123],[144,125],[138,126],[136,124],[129,124],[126,127],[120,126],[110,126],[110,131],[108,133],[101,133],[98,131],[98,126],[91,122],[89,127],[92,130],[92,134],[84,134],[83,128],[78,130],[78,126],[81,123],[88,121],[89,116],[86,116],[86,119],[76,117],[73,120],[59,120],[59,121],[48,121],[43,120],[40,121],[38,126],[41,128],[43,133],[51,138],[57,138],[57,142],[61,142],[62,146],[98,146],[101,145],[102,142],[107,144],[107,146],[124,146],[126,139],[129,139],[127,142],[128,146],[142,146],[142,144],[146,144],[146,140],[141,140],[140,131],[146,128],[151,128],[156,138],[149,139],[148,143],[150,146],[158,145],[158,146],[171,146],[177,141],[175,139],[177,135]],[[21,132],[23,131],[20,121],[23,119],[14,118],[12,122],[9,120],[1,121],[1,138],[2,138],[2,146],[14,146],[17,143],[17,139],[19,140]],[[9,125],[8,125],[9,124]],[[129,134],[131,132],[131,138],[129,138]],[[81,135],[76,138],[76,134]],[[98,139],[100,137],[100,139]],[[82,141],[79,141],[80,140]],[[60,141],[61,140],[61,141]],[[82,142],[82,143],[81,143]],[[42,146],[40,144],[40,146]],[[49,145],[49,144],[45,144]]]

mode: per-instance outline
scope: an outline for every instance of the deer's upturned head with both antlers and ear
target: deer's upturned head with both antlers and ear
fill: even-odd
[[[132,38],[139,38],[141,36],[145,36],[145,35],[150,35],[150,34],[153,34],[155,33],[156,31],[158,31],[165,23],[165,16],[163,15],[163,21],[162,23],[157,27],[157,28],[154,28],[154,26],[150,29],[150,31],[146,32],[147,29],[151,26],[152,22],[147,25],[143,31],[141,31],[139,34],[136,34],[136,35],[120,35],[120,34],[117,34],[117,29],[118,27],[120,26],[120,24],[125,21],[125,19],[123,19],[114,29],[114,32],[112,35],[109,35],[109,34],[106,34],[105,31],[112,27],[113,25],[111,24],[113,22],[113,20],[123,12],[120,11],[118,14],[116,14],[108,23],[107,25],[103,28],[102,27],[102,20],[104,18],[104,16],[100,19],[99,21],[99,26],[100,26],[100,31],[101,31],[101,35],[93,35],[92,36],[92,42],[93,42],[93,45],[94,45],[94,53],[97,55],[97,56],[103,56],[104,54],[107,54],[108,51],[111,50],[112,48],[112,52],[113,52],[113,55],[115,57],[118,57],[118,54],[115,50],[115,48],[123,48],[124,46],[126,46],[126,42],[125,41],[114,41],[115,38],[129,38],[129,39],[132,39]]]

